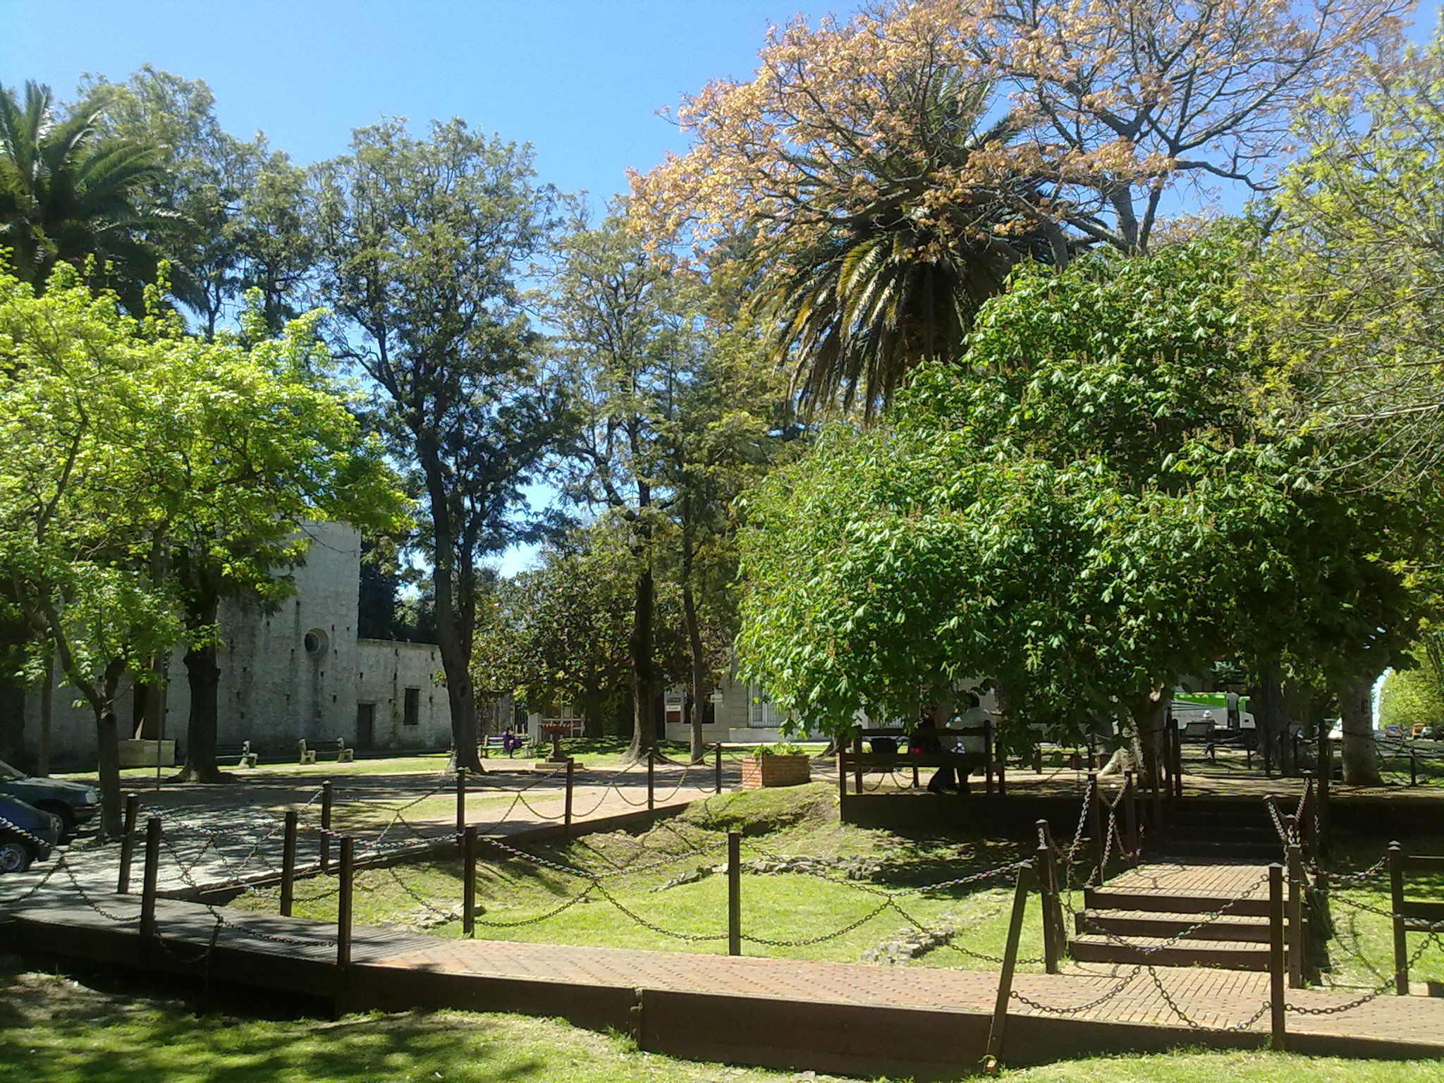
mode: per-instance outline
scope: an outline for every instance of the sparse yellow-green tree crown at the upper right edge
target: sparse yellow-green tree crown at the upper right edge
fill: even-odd
[[[1356,430],[1379,484],[1427,495],[1444,465],[1444,30],[1362,111],[1326,100],[1302,134],[1256,308],[1300,416]]]

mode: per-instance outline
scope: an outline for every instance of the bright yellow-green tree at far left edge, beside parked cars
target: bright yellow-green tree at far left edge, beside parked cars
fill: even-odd
[[[94,297],[74,271],[42,297],[0,274],[0,575],[30,648],[92,712],[105,832],[120,826],[123,680],[149,673],[182,628],[140,469],[165,348],[136,332],[113,295]]]

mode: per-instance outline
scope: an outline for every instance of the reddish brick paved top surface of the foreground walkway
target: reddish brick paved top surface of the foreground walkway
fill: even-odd
[[[45,950],[91,956],[108,952],[114,957],[116,949],[97,949],[95,943],[137,941],[139,902],[133,897],[108,897],[101,902],[104,914],[97,908],[64,904],[61,900],[22,905],[12,913],[22,930],[22,944],[33,937]],[[335,926],[321,921],[211,910],[170,900],[160,902],[157,920],[169,944],[166,954],[189,956],[195,962],[206,954],[208,946],[241,953],[251,959],[241,970],[253,980],[264,973],[267,956],[277,962],[284,957],[312,965],[334,959]],[[82,930],[90,936],[78,936]],[[199,954],[195,954],[198,950]],[[777,1011],[799,1004],[882,1012],[921,1009],[960,1018],[973,1017],[985,1024],[992,1012],[998,980],[995,973],[982,970],[452,940],[378,928],[355,930],[352,963],[373,972],[373,976],[381,972],[375,979],[381,985],[399,985],[404,978],[412,980],[409,988],[425,989],[430,982],[436,988],[451,989],[446,995],[459,996],[459,1006],[477,1006],[475,998],[468,999],[456,992],[465,989],[468,980],[492,991],[508,983],[516,988],[543,986],[554,991],[554,999],[543,998],[537,1014],[547,1014],[547,1005],[553,1005],[550,1012],[557,1015],[567,1015],[563,1009],[566,991],[585,986],[621,992],[747,998],[748,1002],[771,1002]],[[211,960],[206,960],[206,966],[211,966]],[[284,967],[277,973],[284,973]],[[277,979],[280,980],[283,979]],[[1061,975],[1018,975],[1014,989],[1027,999],[1015,999],[1009,1006],[1009,1017],[1032,1018],[1038,1025],[1057,1024],[1076,1030],[1084,1024],[1141,1024],[1186,1031],[1173,1038],[1174,1044],[1194,1040],[1246,1047],[1258,1045],[1268,1032],[1268,1012],[1261,1014],[1259,1009],[1268,1002],[1269,980],[1268,975],[1261,973],[1203,967],[1160,967],[1151,972],[1132,966],[1109,970],[1095,965],[1077,966]],[[1066,1019],[1028,1004],[1074,1008],[1105,998],[1106,993],[1110,995],[1102,1002],[1069,1012]],[[1288,1004],[1318,1011],[1344,1005],[1359,995],[1359,991],[1349,989],[1294,989],[1288,992]],[[420,1002],[435,1005],[438,996],[440,993],[423,993]],[[1203,1030],[1194,1031],[1168,1001]],[[504,995],[500,1002],[507,1004]],[[1220,1034],[1255,1015],[1258,1018],[1232,1040]],[[1291,1035],[1321,1040],[1320,1048],[1334,1048],[1330,1043],[1337,1040],[1339,1051],[1369,1053],[1372,1048],[1378,1056],[1385,1045],[1392,1045],[1386,1056],[1399,1056],[1402,1050],[1419,1057],[1441,1057],[1444,999],[1385,995],[1330,1015],[1291,1011],[1288,1031]]]

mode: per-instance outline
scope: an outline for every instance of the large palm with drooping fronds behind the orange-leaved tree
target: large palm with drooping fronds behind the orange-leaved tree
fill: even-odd
[[[983,124],[991,87],[933,81],[921,97],[905,146],[853,163],[865,186],[814,172],[810,202],[825,214],[773,232],[748,258],[760,271],[755,310],[804,407],[861,401],[871,414],[914,367],[957,355],[1019,260],[1067,258],[1038,182],[950,183],[1015,134],[1009,117]]]

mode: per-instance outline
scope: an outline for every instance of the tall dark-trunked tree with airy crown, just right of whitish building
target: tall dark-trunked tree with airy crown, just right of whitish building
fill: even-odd
[[[553,192],[526,147],[461,120],[427,139],[387,121],[318,166],[313,198],[334,349],[370,378],[374,419],[416,472],[456,762],[481,771],[471,660],[482,560],[531,536],[516,510],[559,417],[518,289],[549,241]]]

